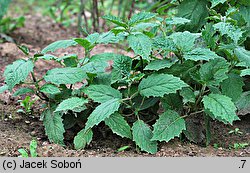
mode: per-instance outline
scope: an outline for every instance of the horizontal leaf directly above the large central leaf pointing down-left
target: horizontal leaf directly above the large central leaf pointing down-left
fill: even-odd
[[[84,93],[98,103],[104,103],[111,99],[122,98],[122,94],[118,90],[107,85],[90,85],[84,89]]]

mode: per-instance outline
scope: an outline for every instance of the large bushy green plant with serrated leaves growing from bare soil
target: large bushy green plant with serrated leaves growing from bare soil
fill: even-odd
[[[175,16],[140,12],[124,21],[106,15],[103,19],[115,25],[109,32],[56,41],[31,57],[21,47],[28,58],[6,67],[1,92],[31,84],[14,95],[36,94],[45,101],[41,118],[51,142],[64,145],[65,130],[81,127],[75,149],[90,144],[93,129],[101,122],[152,154],[158,141],[181,134],[208,145],[212,120],[233,124],[240,120],[237,111],[249,108],[249,4],[244,0],[172,3],[178,11]],[[49,54],[77,44],[85,49],[83,58]],[[90,56],[98,44],[122,44],[134,56]],[[62,67],[37,79],[33,69],[38,59]],[[110,60],[112,70],[106,71]]]

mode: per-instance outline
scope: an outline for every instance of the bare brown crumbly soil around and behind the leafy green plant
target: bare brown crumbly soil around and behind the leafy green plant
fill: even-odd
[[[12,37],[18,43],[24,44],[30,48],[32,53],[41,51],[49,43],[77,37],[77,30],[73,28],[63,28],[55,24],[48,18],[42,18],[41,15],[27,15],[26,25],[24,28],[16,30]],[[94,49],[93,54],[102,52],[120,52],[109,46],[99,46]],[[124,52],[124,51],[122,51]],[[57,54],[76,53],[80,57],[84,54],[83,49],[74,47],[67,50],[60,50]],[[3,85],[4,79],[2,74],[4,68],[9,63],[24,55],[17,49],[13,43],[0,44],[0,86]],[[50,62],[38,62],[35,72],[37,75],[44,74],[48,69],[57,66]],[[38,140],[39,156],[250,156],[250,147],[244,149],[233,149],[235,143],[250,142],[250,116],[241,117],[243,121],[235,123],[234,126],[223,125],[213,122],[212,133],[213,139],[208,147],[201,147],[188,142],[181,142],[179,139],[169,143],[160,143],[159,151],[155,155],[149,155],[144,152],[138,152],[135,145],[130,141],[124,141],[116,135],[107,133],[94,136],[90,146],[85,150],[75,151],[71,145],[61,147],[50,144],[44,134],[42,122],[39,121],[39,103],[36,105],[34,117],[19,115],[16,113],[18,108],[18,98],[12,98],[10,93],[0,94],[0,156],[18,156],[19,148],[28,148],[32,138]],[[243,134],[229,134],[232,129],[239,128]],[[68,132],[67,136],[72,134]],[[215,144],[215,145],[214,145]],[[130,146],[123,152],[117,152],[122,146]]]

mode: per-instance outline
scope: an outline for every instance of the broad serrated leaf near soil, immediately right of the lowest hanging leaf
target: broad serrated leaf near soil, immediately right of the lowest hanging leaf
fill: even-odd
[[[153,137],[151,141],[170,141],[186,130],[185,121],[177,112],[168,110],[160,115],[160,118],[153,125]]]

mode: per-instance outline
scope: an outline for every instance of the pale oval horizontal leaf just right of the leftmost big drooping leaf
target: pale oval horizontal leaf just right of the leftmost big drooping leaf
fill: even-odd
[[[86,73],[77,67],[54,68],[49,70],[44,76],[46,82],[51,82],[56,85],[75,84],[82,82],[86,78]]]

